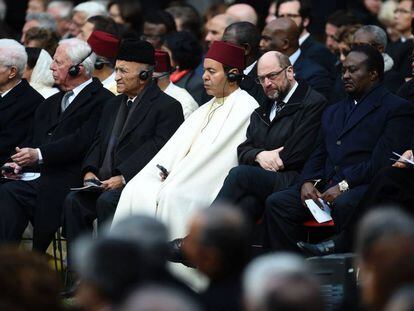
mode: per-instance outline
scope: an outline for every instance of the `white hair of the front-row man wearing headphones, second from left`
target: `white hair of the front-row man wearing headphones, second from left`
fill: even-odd
[[[68,54],[73,65],[83,65],[85,70],[85,75],[87,77],[92,77],[96,55],[91,53],[92,49],[88,43],[77,38],[64,39],[59,42],[59,46],[65,46],[66,53]],[[89,53],[91,53],[89,55]],[[88,56],[89,55],[89,56]],[[86,57],[88,56],[88,57]],[[86,57],[86,59],[85,59]],[[83,60],[83,61],[82,61]]]

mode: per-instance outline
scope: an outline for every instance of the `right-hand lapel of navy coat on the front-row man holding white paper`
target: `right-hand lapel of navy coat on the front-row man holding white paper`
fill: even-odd
[[[355,125],[357,125],[366,115],[371,113],[371,111],[377,109],[381,106],[381,98],[384,96],[384,89],[381,87],[374,87],[374,89],[369,92],[362,100],[354,107],[351,115],[348,116],[343,130],[339,137],[345,135],[350,131]]]

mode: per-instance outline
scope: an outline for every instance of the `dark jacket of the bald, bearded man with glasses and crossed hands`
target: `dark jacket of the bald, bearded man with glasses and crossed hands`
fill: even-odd
[[[284,171],[300,171],[313,150],[326,99],[299,82],[287,105],[270,122],[273,103],[269,100],[253,112],[247,140],[237,148],[239,164],[258,165],[258,153],[284,146],[280,152]]]

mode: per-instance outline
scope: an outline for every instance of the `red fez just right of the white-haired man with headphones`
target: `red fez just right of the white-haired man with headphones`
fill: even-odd
[[[119,39],[110,33],[95,30],[89,36],[88,44],[96,55],[115,59],[118,53]]]

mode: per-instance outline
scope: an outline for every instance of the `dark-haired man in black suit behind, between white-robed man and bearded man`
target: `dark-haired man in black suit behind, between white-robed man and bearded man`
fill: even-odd
[[[240,88],[252,95],[262,105],[267,101],[263,88],[256,83],[257,59],[260,50],[259,29],[249,22],[236,22],[227,26],[223,33],[223,41],[233,43],[244,49],[246,69],[243,71],[243,80]]]

